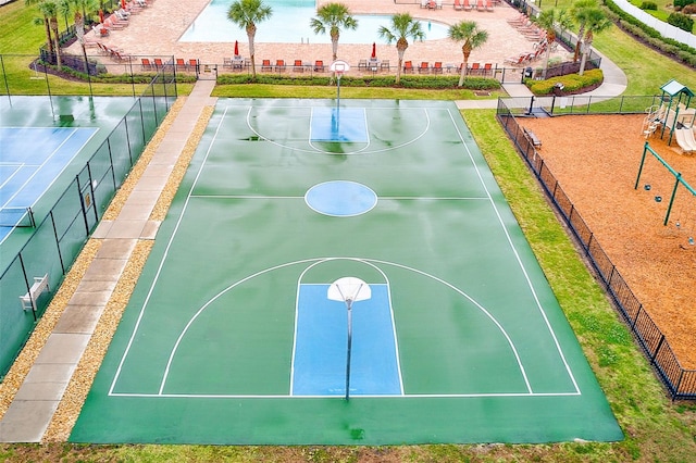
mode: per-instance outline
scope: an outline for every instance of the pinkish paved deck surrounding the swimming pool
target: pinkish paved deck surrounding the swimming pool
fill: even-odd
[[[201,63],[223,64],[224,59],[234,54],[234,42],[179,42],[178,38],[186,32],[189,25],[196,20],[198,14],[206,8],[210,0],[188,0],[186,7],[182,8],[178,0],[150,0],[148,8],[141,9],[136,14],[130,15],[128,26],[119,30],[112,30],[108,37],[99,39],[103,45],[116,48],[124,54],[135,58],[139,64],[140,57],[172,57],[183,58],[188,62],[190,59],[198,59]],[[453,9],[453,0],[444,0],[442,9],[424,9],[420,7],[420,1],[412,3],[396,3],[394,0],[344,0],[353,14],[386,14],[409,12],[415,18],[423,21],[440,22],[446,25],[456,24],[460,21],[474,21],[480,28],[488,32],[486,43],[473,50],[469,58],[469,63],[492,63],[494,67],[502,67],[505,60],[509,57],[522,52],[534,51],[534,40],[527,39],[518,29],[512,27],[507,20],[519,16],[519,12],[502,2],[494,8],[493,12],[486,11],[457,11]],[[385,24],[389,26],[389,24]],[[231,28],[236,26],[229,23]],[[263,28],[263,23],[257,24],[259,29]],[[296,25],[300,27],[300,25]],[[426,27],[424,25],[424,27]],[[285,60],[293,63],[295,60],[313,63],[323,60],[324,63],[332,61],[331,39],[327,35],[314,35],[307,24],[309,40],[300,43],[254,43],[257,65],[266,59],[275,63],[276,60]],[[87,35],[88,40],[96,40],[95,34]],[[249,57],[249,47],[246,34],[239,33],[239,53],[243,58]],[[309,41],[309,42],[308,42]],[[428,62],[431,66],[439,61],[446,64],[457,65],[461,63],[461,42],[457,43],[450,39],[427,40],[423,42],[409,43],[406,50],[405,60],[413,62],[417,66],[421,62]],[[96,48],[92,49],[96,52]],[[70,52],[80,54],[78,45],[73,45]],[[372,52],[372,45],[350,45],[338,41],[338,58],[347,61],[351,66],[358,65],[360,60],[366,60]],[[564,57],[568,54],[562,48],[558,48],[551,57]],[[396,45],[387,45],[384,40],[376,41],[376,55],[380,60],[389,60],[391,72],[398,62]],[[108,58],[104,62],[113,63]],[[532,64],[543,65],[543,58]],[[507,64],[510,66],[510,64]],[[288,66],[291,67],[291,66]]]

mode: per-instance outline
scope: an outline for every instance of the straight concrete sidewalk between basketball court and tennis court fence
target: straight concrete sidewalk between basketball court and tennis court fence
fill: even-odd
[[[102,246],[0,422],[1,442],[41,441],[136,243],[154,239],[148,218],[214,86],[198,80],[116,220],[95,230]]]

